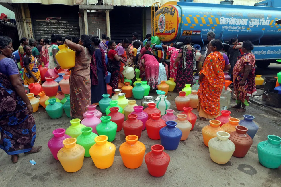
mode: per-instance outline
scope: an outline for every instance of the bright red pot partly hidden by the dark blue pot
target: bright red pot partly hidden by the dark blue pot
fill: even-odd
[[[145,122],[147,135],[153,140],[160,140],[159,130],[166,126],[166,122],[160,117],[160,114],[153,113],[151,118]]]

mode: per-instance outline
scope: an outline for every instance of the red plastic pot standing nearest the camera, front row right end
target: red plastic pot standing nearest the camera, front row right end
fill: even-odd
[[[145,164],[148,172],[154,177],[163,176],[169,166],[170,156],[163,150],[163,146],[153,145],[151,146],[151,152],[145,155]]]

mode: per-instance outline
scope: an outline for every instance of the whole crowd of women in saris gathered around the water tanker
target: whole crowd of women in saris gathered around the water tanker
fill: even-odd
[[[79,40],[69,36],[62,39],[60,35],[52,34],[51,44],[48,39],[39,39],[39,46],[35,39],[22,38],[19,54],[21,66],[24,67],[23,79],[19,75],[16,61],[13,60],[12,40],[0,36],[0,148],[11,155],[13,163],[18,161],[19,153],[33,153],[41,149],[41,146],[33,146],[36,126],[24,86],[30,83],[41,84],[38,64],[60,68],[56,59],[59,45],[66,44],[76,53],[75,66],[71,68],[70,75],[73,118],[82,119],[87,105],[97,104],[102,99],[102,94],[107,93],[105,77],[108,71],[111,73],[110,85],[113,90],[118,88],[119,79],[125,78],[121,69],[124,65],[138,68],[140,77],[154,90],[161,80],[167,80],[169,77],[176,80],[178,91],[181,91],[185,84],[192,84],[193,72],[198,67],[190,37],[184,39],[184,45],[179,49],[176,46],[162,45],[170,56],[168,68],[165,60],[157,60],[153,55],[151,35],[147,35],[143,42],[138,40],[137,33],[132,35],[131,43],[125,38],[118,44],[110,41],[104,34],[102,39],[98,36],[81,35]],[[221,52],[222,42],[209,38],[211,37],[208,36],[210,51],[202,64],[199,78],[198,118],[201,120],[213,119],[219,115],[224,71],[232,71],[234,91],[237,95],[237,105],[234,107],[239,108],[238,112],[245,111],[245,107],[249,105],[249,97],[256,91],[255,56],[251,53],[253,44],[245,41],[238,45],[237,39],[233,39],[226,55]],[[238,55],[239,49],[242,49],[243,55]]]

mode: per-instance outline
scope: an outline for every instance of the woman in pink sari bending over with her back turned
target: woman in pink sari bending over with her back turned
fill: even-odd
[[[150,51],[146,51],[141,57],[139,67],[140,69],[144,69],[144,71],[140,72],[140,77],[147,81],[147,84],[151,87],[151,89],[157,89],[159,62]]]

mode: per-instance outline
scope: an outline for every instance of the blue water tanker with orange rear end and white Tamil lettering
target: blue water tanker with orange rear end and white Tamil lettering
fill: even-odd
[[[254,44],[256,65],[267,67],[280,63],[276,60],[281,58],[281,25],[275,22],[279,19],[280,7],[171,1],[154,13],[152,34],[165,45],[181,44],[185,37],[191,37],[193,44],[200,45],[201,54],[208,44],[209,31],[223,43],[229,44],[231,38],[238,38],[239,42],[250,40]],[[164,51],[154,53],[167,58]]]

